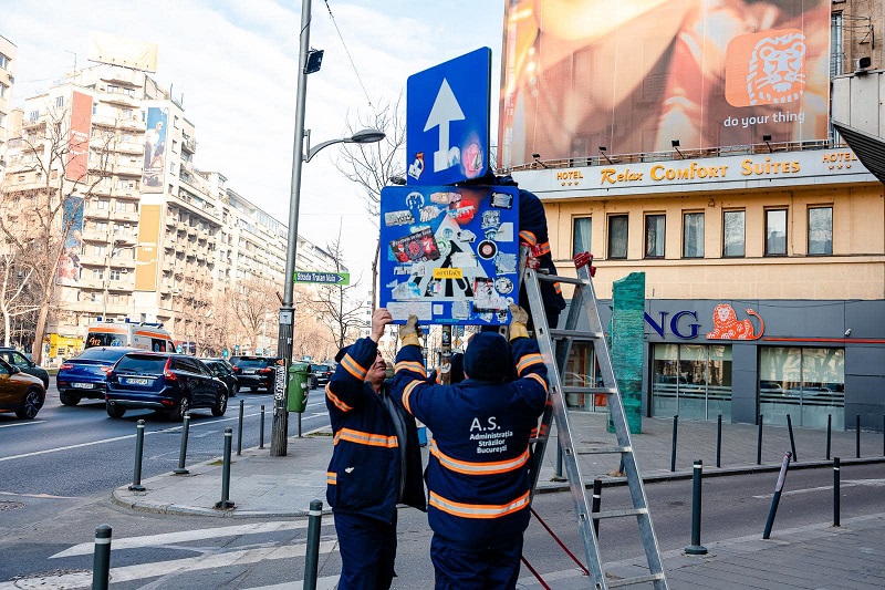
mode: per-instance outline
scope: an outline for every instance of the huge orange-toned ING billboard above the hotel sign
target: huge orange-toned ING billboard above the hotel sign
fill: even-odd
[[[826,139],[829,0],[507,0],[498,163]]]

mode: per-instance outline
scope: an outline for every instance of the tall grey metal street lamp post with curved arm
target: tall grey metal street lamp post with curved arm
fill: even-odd
[[[292,338],[294,306],[295,255],[298,250],[298,214],[301,199],[301,165],[310,162],[314,155],[324,147],[339,143],[375,143],[384,138],[384,133],[377,130],[363,130],[351,137],[322,142],[310,147],[310,132],[304,131],[304,105],[308,92],[308,74],[319,70],[319,62],[309,68],[308,58],[310,49],[311,0],[301,2],[301,35],[299,49],[298,90],[295,95],[295,136],[292,146],[292,178],[289,200],[289,232],[285,247],[285,273],[283,275],[283,301],[280,307],[279,337],[277,340],[277,355],[284,359],[283,368],[288,374],[292,364]],[[304,139],[308,138],[308,149],[304,153]],[[299,420],[301,415],[299,414]],[[270,455],[284,457],[287,454],[287,436],[289,434],[289,414],[287,410],[287,387],[274,390],[273,422],[271,426]]]

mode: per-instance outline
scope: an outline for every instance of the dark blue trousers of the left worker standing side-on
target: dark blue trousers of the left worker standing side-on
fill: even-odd
[[[339,590],[391,588],[396,576],[396,511],[391,524],[360,515],[335,513],[335,532],[341,552]]]

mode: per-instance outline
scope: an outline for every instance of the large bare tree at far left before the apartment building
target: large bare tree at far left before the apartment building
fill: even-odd
[[[39,307],[32,342],[33,360],[42,361],[43,337],[56,292],[65,244],[84,204],[113,168],[114,132],[82,137],[72,128],[67,107],[49,108],[23,125],[10,142],[13,157],[0,190],[0,236],[4,251],[17,252]],[[18,153],[15,153],[18,152]]]

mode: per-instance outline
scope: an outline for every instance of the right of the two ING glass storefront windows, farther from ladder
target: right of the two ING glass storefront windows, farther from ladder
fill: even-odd
[[[845,350],[768,346],[759,352],[759,413],[770,424],[845,427]]]

